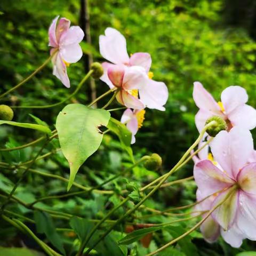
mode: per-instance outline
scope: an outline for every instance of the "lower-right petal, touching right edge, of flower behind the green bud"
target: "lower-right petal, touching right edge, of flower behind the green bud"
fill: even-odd
[[[245,129],[252,130],[256,127],[256,110],[244,104],[231,111],[228,119],[233,126],[239,125]]]

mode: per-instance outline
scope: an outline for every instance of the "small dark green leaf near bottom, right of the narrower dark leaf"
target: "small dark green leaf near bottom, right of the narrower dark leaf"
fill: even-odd
[[[91,222],[75,216],[70,219],[69,225],[74,229],[80,241],[84,241],[93,228],[93,224]]]

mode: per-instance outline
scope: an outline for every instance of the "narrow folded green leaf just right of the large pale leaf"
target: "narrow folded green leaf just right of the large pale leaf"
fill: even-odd
[[[131,149],[132,133],[127,129],[127,127],[124,124],[122,124],[113,117],[110,118],[107,127],[110,131],[114,132],[118,136],[123,149],[126,150],[126,152],[131,157],[132,162],[134,162],[133,153]]]

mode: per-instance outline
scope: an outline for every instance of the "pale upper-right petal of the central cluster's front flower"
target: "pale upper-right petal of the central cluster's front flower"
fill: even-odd
[[[123,88],[126,90],[140,89],[147,83],[148,77],[145,70],[139,66],[125,69]]]

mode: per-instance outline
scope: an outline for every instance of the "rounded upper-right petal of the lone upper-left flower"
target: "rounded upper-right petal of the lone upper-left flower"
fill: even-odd
[[[84,31],[79,26],[70,27],[60,37],[60,47],[79,44],[84,38]]]

